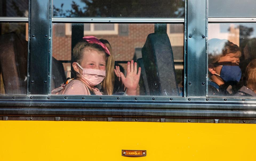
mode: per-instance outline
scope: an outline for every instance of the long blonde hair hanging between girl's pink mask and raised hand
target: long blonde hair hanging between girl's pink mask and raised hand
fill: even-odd
[[[112,95],[114,90],[114,81],[115,81],[115,75],[114,75],[115,59],[113,56],[110,43],[105,39],[100,39],[100,41],[107,47],[107,49],[109,49],[109,52],[110,52],[110,56],[107,57],[107,61],[106,61],[106,77],[101,82],[101,85],[103,88],[103,94]]]

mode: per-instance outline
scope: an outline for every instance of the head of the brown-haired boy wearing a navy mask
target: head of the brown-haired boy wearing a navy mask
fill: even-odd
[[[240,57],[241,50],[236,44],[226,39],[210,39],[208,42],[209,78],[218,85],[228,81],[239,81]],[[224,66],[225,70],[222,70]]]

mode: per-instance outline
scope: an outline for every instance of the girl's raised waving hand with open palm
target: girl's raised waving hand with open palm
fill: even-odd
[[[141,67],[137,73],[137,63],[132,60],[127,63],[127,74],[126,77],[122,72],[119,71],[123,85],[127,88],[127,95],[137,95],[137,86],[139,84],[139,77],[141,75]]]

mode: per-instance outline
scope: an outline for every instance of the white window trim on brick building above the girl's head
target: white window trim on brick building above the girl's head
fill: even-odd
[[[65,24],[65,35],[71,35],[71,23]],[[94,30],[94,23],[90,23],[90,31],[83,31],[84,35],[118,35],[118,24],[114,23],[114,30]]]

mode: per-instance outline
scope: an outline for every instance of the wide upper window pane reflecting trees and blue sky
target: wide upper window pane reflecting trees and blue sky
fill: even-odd
[[[111,18],[184,18],[184,0],[54,0],[53,16]]]

